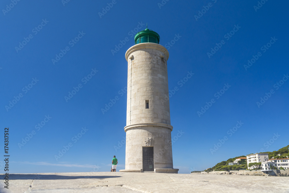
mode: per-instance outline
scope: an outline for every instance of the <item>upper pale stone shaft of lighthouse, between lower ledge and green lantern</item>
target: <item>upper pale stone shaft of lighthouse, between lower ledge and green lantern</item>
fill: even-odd
[[[154,43],[137,44],[127,51],[127,126],[171,124],[166,52],[162,45]]]

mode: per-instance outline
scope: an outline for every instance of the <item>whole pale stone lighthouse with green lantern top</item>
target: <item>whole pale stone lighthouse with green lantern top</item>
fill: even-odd
[[[121,172],[177,173],[173,169],[168,50],[160,36],[149,29],[138,32],[125,53],[127,74],[127,123],[125,170]]]

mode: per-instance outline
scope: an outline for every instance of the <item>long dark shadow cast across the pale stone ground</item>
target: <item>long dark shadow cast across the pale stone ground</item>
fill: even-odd
[[[5,175],[0,175],[0,179],[4,179]],[[118,178],[121,176],[63,176],[55,174],[9,174],[9,180],[71,180],[71,179],[105,179]]]

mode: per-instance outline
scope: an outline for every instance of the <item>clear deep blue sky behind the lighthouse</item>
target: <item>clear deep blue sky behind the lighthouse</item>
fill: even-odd
[[[0,129],[9,127],[9,172],[110,171],[113,155],[117,171],[124,169],[125,52],[146,23],[170,54],[179,173],[288,145],[288,2],[63,2],[0,3]]]

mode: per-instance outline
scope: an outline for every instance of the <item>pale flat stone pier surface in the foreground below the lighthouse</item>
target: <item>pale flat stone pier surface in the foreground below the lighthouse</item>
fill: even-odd
[[[289,192],[289,177],[77,172],[1,175],[0,192]]]

